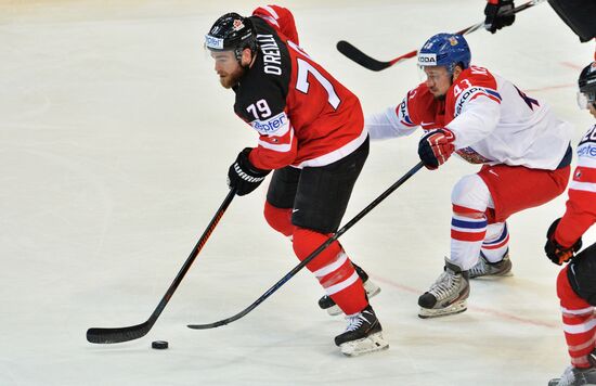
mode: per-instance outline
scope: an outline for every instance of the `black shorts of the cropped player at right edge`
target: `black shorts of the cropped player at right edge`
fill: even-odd
[[[582,250],[567,266],[571,288],[591,306],[596,306],[596,244]]]

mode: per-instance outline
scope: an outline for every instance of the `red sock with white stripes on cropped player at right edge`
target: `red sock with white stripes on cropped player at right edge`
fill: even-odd
[[[595,348],[594,307],[579,297],[571,288],[567,278],[568,267],[565,267],[557,278],[557,295],[561,304],[565,339],[571,357],[571,364],[575,368],[589,368],[587,356]]]

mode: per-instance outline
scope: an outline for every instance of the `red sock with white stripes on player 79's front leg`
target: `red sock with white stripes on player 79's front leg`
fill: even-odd
[[[331,234],[296,228],[294,252],[303,260],[329,236]],[[312,259],[307,268],[314,273],[327,295],[346,314],[360,312],[368,306],[362,281],[337,241]]]

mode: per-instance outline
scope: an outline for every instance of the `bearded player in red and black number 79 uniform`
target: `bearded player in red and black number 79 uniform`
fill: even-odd
[[[275,170],[264,217],[303,260],[339,228],[368,155],[360,101],[298,46],[285,8],[228,13],[205,44],[221,85],[235,92],[234,112],[259,133],[258,144],[230,166],[229,186],[248,194]],[[367,278],[337,241],[307,268],[347,316],[346,332],[335,338],[345,355],[388,347],[365,293]]]

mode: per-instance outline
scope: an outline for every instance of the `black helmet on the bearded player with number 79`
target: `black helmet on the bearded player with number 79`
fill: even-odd
[[[235,12],[226,13],[213,23],[209,34],[205,35],[205,47],[211,51],[234,51],[239,61],[242,51],[257,50],[255,27],[248,17]]]

